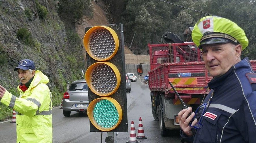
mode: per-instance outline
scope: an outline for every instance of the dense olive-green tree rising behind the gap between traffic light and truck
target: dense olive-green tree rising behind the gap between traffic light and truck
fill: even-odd
[[[146,51],[147,44],[158,43],[170,23],[171,8],[161,5],[159,1],[130,0],[125,9],[122,22],[125,23],[125,39],[130,43],[135,34],[133,42],[133,53],[140,54]]]

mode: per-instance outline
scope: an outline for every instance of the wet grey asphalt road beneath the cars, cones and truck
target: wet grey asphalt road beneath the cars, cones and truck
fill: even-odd
[[[159,122],[155,121],[151,113],[150,90],[148,85],[132,82],[132,91],[127,92],[127,112],[128,112],[128,132],[118,133],[116,142],[129,141],[131,121],[134,121],[135,132],[137,135],[139,117],[142,118],[142,125],[146,139],[138,139],[142,143],[180,143],[178,131],[171,131],[169,137],[161,137],[159,133]],[[106,133],[90,132],[89,119],[86,114],[71,112],[70,117],[64,117],[62,109],[56,107],[52,112],[53,123],[53,142],[54,143],[101,143],[105,142]],[[0,123],[0,142],[16,142],[16,124],[10,123],[11,120]]]

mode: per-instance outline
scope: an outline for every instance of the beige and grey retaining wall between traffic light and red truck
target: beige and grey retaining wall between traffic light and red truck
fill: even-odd
[[[137,64],[149,62],[149,56],[147,55],[129,55],[125,54],[125,73],[135,73],[137,78],[139,78],[137,74]],[[147,75],[150,70],[150,64],[142,64],[143,74]],[[140,77],[144,78],[144,77]]]

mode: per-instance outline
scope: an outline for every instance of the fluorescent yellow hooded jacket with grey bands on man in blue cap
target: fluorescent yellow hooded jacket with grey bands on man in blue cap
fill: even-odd
[[[1,102],[16,111],[17,143],[52,143],[52,95],[41,71],[20,98],[5,92]],[[17,113],[18,112],[18,113]]]

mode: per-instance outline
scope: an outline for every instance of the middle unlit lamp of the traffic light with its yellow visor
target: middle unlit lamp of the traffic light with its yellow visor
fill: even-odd
[[[91,91],[99,96],[115,93],[121,82],[118,68],[110,62],[96,62],[89,66],[85,79]]]

